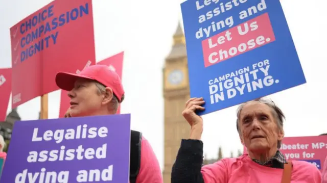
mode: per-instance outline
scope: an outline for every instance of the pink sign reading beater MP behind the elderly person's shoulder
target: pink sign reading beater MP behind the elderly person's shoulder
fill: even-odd
[[[285,137],[279,150],[286,160],[306,161],[322,171],[323,165],[327,163],[327,136]],[[244,153],[247,153],[245,146]]]

